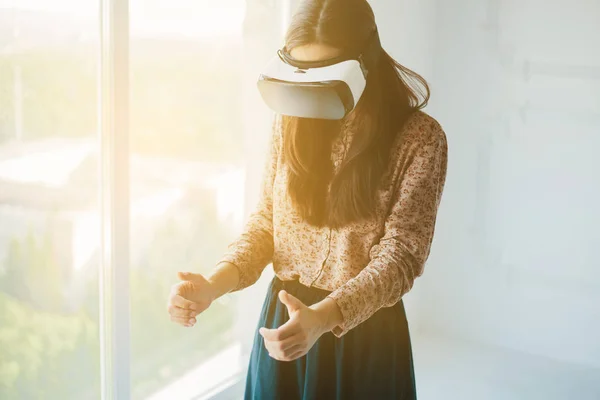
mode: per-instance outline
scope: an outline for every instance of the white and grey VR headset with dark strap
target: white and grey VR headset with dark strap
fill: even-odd
[[[258,90],[278,114],[339,120],[358,104],[380,54],[377,30],[360,52],[328,60],[299,61],[283,47],[260,74]]]

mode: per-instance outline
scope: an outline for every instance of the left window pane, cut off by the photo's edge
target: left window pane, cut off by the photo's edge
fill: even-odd
[[[0,7],[0,398],[97,399],[98,1]]]

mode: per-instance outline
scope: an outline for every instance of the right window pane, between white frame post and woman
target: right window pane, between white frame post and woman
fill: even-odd
[[[131,3],[135,399],[187,398],[185,376],[194,384],[182,390],[209,389],[224,377],[206,361],[235,344],[235,299],[220,299],[194,328],[172,323],[166,303],[177,272],[209,272],[242,222],[244,3]]]

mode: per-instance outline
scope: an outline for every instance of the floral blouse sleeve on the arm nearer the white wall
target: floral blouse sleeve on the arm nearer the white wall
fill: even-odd
[[[446,179],[448,146],[441,127],[411,146],[399,178],[385,233],[369,253],[369,263],[328,295],[338,304],[343,322],[332,333],[345,335],[377,310],[396,304],[423,273],[433,239]]]

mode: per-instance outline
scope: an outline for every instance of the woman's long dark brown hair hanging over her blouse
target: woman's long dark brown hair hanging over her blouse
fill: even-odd
[[[358,52],[375,29],[366,0],[305,0],[292,18],[285,45],[289,51],[319,43]],[[382,49],[360,101],[344,120],[284,117],[287,190],[300,215],[312,225],[333,228],[372,215],[391,144],[408,116],[428,100],[427,82]],[[342,130],[354,136],[334,176],[331,146]]]

